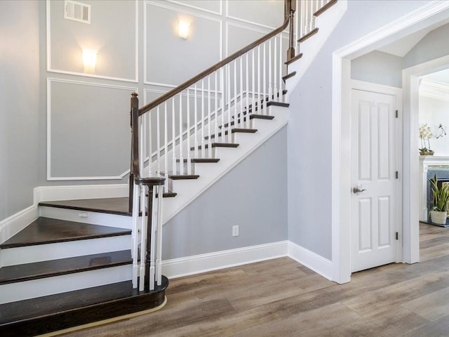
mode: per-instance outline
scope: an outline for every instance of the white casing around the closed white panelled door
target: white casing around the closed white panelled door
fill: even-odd
[[[356,79],[351,79],[351,103],[352,103],[352,91],[353,90],[359,90],[359,91],[368,91],[371,93],[380,93],[384,95],[392,95],[396,97],[396,110],[398,110],[398,117],[396,119],[396,171],[399,172],[398,179],[396,180],[396,200],[395,200],[395,207],[396,207],[396,222],[394,223],[394,229],[395,232],[398,232],[398,240],[395,243],[396,251],[395,251],[395,257],[396,257],[396,263],[402,262],[402,238],[403,238],[403,226],[402,226],[402,186],[403,186],[403,179],[402,179],[402,160],[403,158],[403,152],[402,152],[402,144],[403,144],[403,132],[402,132],[402,126],[403,126],[403,109],[402,109],[402,89],[396,88],[394,86],[384,86],[382,84],[374,84],[371,82],[366,81],[358,81]],[[351,125],[351,114],[352,111],[349,110],[349,125]],[[352,158],[350,158],[351,160]],[[352,171],[352,169],[350,170]],[[352,172],[350,172],[349,178],[352,178]],[[351,186],[352,187],[352,186]],[[349,189],[350,190],[350,189]],[[351,192],[349,191],[350,196],[352,197]],[[350,209],[350,212],[352,214],[352,207]],[[350,217],[349,219],[351,219]],[[352,226],[353,223],[349,221],[349,238],[350,238],[350,244],[352,245]]]

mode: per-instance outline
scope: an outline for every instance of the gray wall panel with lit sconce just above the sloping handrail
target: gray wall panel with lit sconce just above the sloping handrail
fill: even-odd
[[[190,23],[187,39],[179,20]],[[146,83],[178,85],[221,59],[221,20],[146,3],[144,26]]]

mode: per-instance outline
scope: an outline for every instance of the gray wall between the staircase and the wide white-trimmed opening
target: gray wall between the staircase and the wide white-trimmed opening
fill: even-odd
[[[332,258],[333,51],[428,2],[348,1],[347,12],[290,96],[288,239],[324,258]]]

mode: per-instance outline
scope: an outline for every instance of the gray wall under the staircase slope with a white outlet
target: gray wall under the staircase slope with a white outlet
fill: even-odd
[[[286,141],[284,127],[164,225],[163,259],[288,239]]]

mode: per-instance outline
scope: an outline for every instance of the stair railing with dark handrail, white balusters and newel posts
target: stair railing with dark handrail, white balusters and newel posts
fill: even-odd
[[[191,175],[192,159],[212,158],[214,143],[232,143],[233,128],[250,128],[250,114],[269,114],[269,100],[283,101],[284,60],[295,56],[295,8],[296,0],[285,0],[281,27],[151,103],[139,108],[132,94],[133,287],[161,285],[161,205],[170,175]]]

